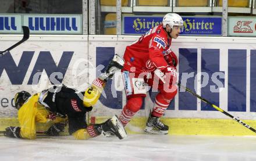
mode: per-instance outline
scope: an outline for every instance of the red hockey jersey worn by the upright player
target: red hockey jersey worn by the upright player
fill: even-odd
[[[151,28],[150,31],[141,36],[133,44],[126,47],[124,69],[127,71],[135,71],[136,73],[151,72],[155,68],[160,70],[165,69],[168,66],[168,62],[164,56],[175,56],[175,65],[177,65],[176,55],[171,51],[170,44],[172,39],[168,38],[162,24]],[[131,68],[133,67],[133,68]]]

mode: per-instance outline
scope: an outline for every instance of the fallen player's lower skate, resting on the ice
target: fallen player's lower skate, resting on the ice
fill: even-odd
[[[127,137],[126,130],[116,115],[100,124],[97,131],[104,136],[116,135],[119,139]]]

